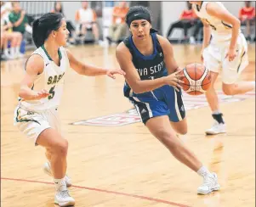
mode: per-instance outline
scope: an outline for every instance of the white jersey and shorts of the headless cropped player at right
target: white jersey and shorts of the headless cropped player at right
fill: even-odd
[[[204,64],[208,70],[216,73],[222,72],[222,81],[225,84],[233,84],[248,64],[247,42],[242,32],[239,31],[236,42],[236,58],[232,61],[225,58],[230,47],[232,25],[208,14],[208,3],[209,2],[202,2],[201,7],[193,4],[196,15],[204,22],[207,22],[211,27],[212,40],[202,53]],[[215,3],[218,3],[220,7],[226,9],[222,3]]]

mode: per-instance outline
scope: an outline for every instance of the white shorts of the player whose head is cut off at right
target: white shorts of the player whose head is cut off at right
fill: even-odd
[[[242,70],[244,70],[248,64],[247,42],[242,34],[237,37],[237,55],[232,61],[229,61],[227,58],[225,59],[229,47],[230,41],[218,43],[211,42],[208,48],[205,48],[202,53],[204,65],[208,70],[215,73],[222,72],[222,81],[225,84],[235,83]]]

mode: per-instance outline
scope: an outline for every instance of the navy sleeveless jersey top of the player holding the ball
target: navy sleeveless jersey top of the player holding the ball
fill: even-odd
[[[132,36],[128,36],[123,42],[132,55],[134,67],[138,71],[140,80],[152,80],[162,76],[168,76],[168,70],[163,61],[163,52],[156,33],[151,33],[154,51],[151,55],[145,56],[135,47]],[[123,88],[124,96],[132,96],[131,87],[125,82]]]

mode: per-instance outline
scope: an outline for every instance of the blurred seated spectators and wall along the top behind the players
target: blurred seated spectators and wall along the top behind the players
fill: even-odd
[[[247,42],[255,42],[255,2],[225,4],[241,20]],[[134,5],[151,9],[153,27],[170,42],[202,43],[202,22],[188,2],[1,2],[1,60],[19,59],[35,49],[31,25],[48,12],[65,16],[68,47],[87,43],[115,47],[129,35],[125,15]]]

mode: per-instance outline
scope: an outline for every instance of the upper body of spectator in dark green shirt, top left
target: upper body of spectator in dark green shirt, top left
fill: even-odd
[[[26,12],[21,9],[19,2],[12,2],[13,10],[9,14],[9,21],[13,25],[13,31],[20,32],[24,35],[25,31],[30,31],[31,26],[28,25]]]

